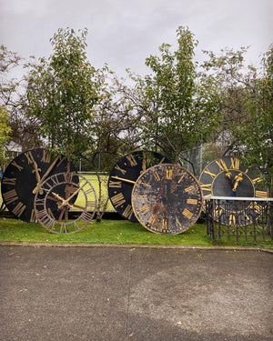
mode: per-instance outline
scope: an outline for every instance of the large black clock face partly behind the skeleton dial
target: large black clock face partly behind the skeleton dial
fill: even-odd
[[[68,168],[67,168],[68,167]],[[65,158],[55,158],[44,148],[35,148],[15,157],[6,167],[1,192],[5,206],[25,222],[35,222],[34,199],[39,185],[56,173],[76,171]],[[54,211],[53,211],[54,212]]]

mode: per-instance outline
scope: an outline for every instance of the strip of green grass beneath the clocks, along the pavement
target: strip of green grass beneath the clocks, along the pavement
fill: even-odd
[[[92,222],[76,234],[56,235],[49,233],[43,226],[25,223],[11,218],[0,218],[0,241],[42,242],[42,243],[96,243],[96,244],[150,244],[184,246],[258,246],[273,248],[268,242],[236,242],[223,240],[213,242],[207,236],[203,224],[195,224],[180,235],[154,234],[137,223],[126,220],[103,220]]]

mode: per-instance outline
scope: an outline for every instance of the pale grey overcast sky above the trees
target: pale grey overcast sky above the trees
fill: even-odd
[[[201,50],[250,45],[248,63],[273,43],[273,0],[0,0],[0,44],[24,58],[49,56],[58,28],[87,27],[90,63],[118,75],[144,75],[145,59],[162,43],[176,45],[188,26]]]

